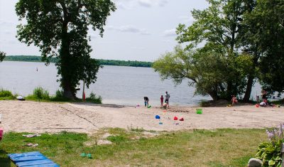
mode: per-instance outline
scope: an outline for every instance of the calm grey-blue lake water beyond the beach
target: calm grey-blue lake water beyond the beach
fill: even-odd
[[[38,69],[38,71],[36,70]],[[0,88],[11,90],[18,95],[32,94],[35,87],[43,87],[55,95],[59,90],[56,80],[57,69],[54,64],[45,66],[44,63],[9,62],[0,63]],[[81,90],[77,97],[82,97]],[[170,94],[170,105],[192,106],[211,97],[194,96],[195,88],[189,87],[187,82],[175,86],[171,80],[160,80],[153,68],[133,68],[119,66],[104,66],[99,70],[97,82],[86,90],[101,95],[104,104],[143,105],[143,97],[150,99],[149,104],[158,106],[160,95]],[[260,92],[260,85],[253,87],[252,96]]]

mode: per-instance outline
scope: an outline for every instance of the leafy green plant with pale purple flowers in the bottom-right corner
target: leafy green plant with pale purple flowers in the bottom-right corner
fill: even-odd
[[[280,124],[278,128],[267,129],[268,139],[271,142],[263,142],[258,146],[258,152],[255,158],[263,161],[263,166],[280,167],[281,162],[281,144],[284,142],[283,138],[284,124]]]

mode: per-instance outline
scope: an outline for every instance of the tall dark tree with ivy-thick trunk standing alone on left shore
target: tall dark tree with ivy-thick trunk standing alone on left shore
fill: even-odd
[[[107,16],[115,9],[111,0],[19,0],[16,14],[27,23],[17,26],[18,40],[38,46],[47,63],[58,57],[60,86],[65,97],[74,99],[80,80],[87,87],[97,80],[99,63],[89,56],[89,26],[103,36]]]

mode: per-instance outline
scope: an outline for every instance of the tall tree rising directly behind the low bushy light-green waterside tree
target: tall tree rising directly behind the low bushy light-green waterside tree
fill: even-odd
[[[177,28],[178,42],[186,43],[188,48],[200,48],[224,55],[226,59],[226,77],[218,89],[217,99],[231,99],[231,95],[242,95],[246,86],[246,76],[240,73],[238,65],[239,32],[245,8],[241,0],[208,0],[209,8],[193,10],[195,22],[186,27],[180,24]],[[216,67],[218,68],[218,67]],[[210,70],[216,70],[212,68]],[[216,87],[216,85],[212,85]]]

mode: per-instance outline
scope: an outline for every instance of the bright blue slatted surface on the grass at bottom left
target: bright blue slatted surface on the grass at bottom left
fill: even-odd
[[[27,167],[59,167],[58,164],[54,163],[50,159],[43,156],[38,151],[28,153],[11,153],[8,154],[9,158],[16,164],[16,166],[27,166]]]

